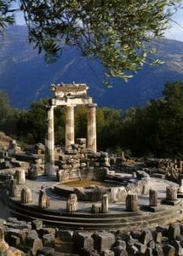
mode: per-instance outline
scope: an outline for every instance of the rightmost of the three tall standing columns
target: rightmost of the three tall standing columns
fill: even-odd
[[[96,106],[97,104],[89,104],[88,108],[88,140],[87,148],[96,152]]]

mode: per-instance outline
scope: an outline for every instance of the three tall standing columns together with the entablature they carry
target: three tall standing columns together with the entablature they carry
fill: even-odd
[[[45,167],[45,175],[55,175],[54,166],[54,108],[58,106],[65,107],[66,111],[66,152],[72,149],[75,144],[74,137],[74,108],[77,105],[86,105],[88,107],[88,139],[87,148],[96,152],[96,104],[92,98],[87,96],[89,87],[86,84],[58,84],[52,85],[54,98],[49,101],[48,112],[48,137],[46,139],[46,149],[48,152],[48,162]],[[81,142],[80,142],[81,143]],[[84,143],[83,143],[84,144]]]

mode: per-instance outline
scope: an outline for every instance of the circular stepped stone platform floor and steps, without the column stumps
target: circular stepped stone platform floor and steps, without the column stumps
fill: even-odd
[[[138,196],[139,210],[137,212],[127,212],[123,201],[110,201],[107,213],[91,213],[92,202],[89,201],[78,201],[77,212],[66,212],[68,197],[55,194],[51,189],[54,185],[55,181],[48,177],[38,177],[36,181],[26,180],[26,184],[17,186],[18,194],[16,197],[3,195],[3,200],[13,216],[30,220],[40,218],[46,224],[71,230],[135,230],[147,225],[152,227],[182,219],[181,201],[178,201],[174,206],[160,204],[160,201],[166,197],[166,187],[169,185],[176,186],[176,184],[159,178],[150,178],[150,187],[156,189],[158,195],[159,205],[156,212],[152,212],[148,208],[148,195]],[[50,199],[50,207],[47,209],[38,207],[38,196],[42,186]],[[20,191],[23,187],[31,188],[31,203],[22,204],[20,202]],[[96,203],[99,207],[100,204],[101,202]]]

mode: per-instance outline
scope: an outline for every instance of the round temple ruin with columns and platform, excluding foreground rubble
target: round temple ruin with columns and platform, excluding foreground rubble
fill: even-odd
[[[126,160],[97,150],[96,107],[87,84],[51,85],[45,145],[1,148],[3,201],[12,216],[64,230],[138,230],[182,218],[183,163]],[[75,138],[74,109],[88,112],[87,138]],[[54,145],[54,108],[65,108],[65,147]]]

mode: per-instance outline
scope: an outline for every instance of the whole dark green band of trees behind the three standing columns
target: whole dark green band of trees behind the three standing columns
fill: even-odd
[[[99,150],[130,151],[133,155],[183,157],[183,84],[167,83],[161,99],[146,107],[98,108],[97,146]],[[27,111],[9,107],[8,96],[0,92],[0,130],[25,143],[44,143],[47,100],[34,102]],[[54,108],[56,144],[65,143],[65,109]],[[87,137],[87,108],[75,109],[75,137]]]

